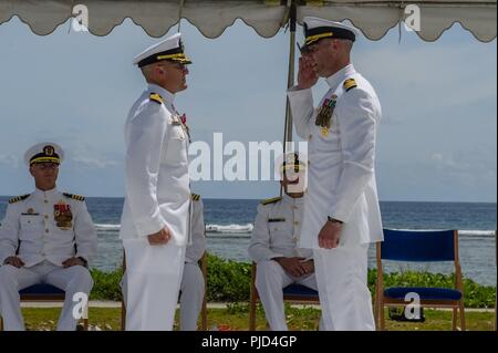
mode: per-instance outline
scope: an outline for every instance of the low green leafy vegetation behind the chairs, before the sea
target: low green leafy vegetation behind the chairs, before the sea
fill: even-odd
[[[251,264],[222,260],[208,256],[208,301],[247,302],[249,301]],[[95,285],[91,300],[115,300],[122,298],[120,281],[123,270],[102,272],[92,270]],[[369,271],[369,287],[375,292],[376,270]],[[454,276],[428,272],[394,272],[384,274],[384,287],[439,287],[454,288]],[[466,308],[495,308],[495,287],[480,285],[470,279],[464,279]]]

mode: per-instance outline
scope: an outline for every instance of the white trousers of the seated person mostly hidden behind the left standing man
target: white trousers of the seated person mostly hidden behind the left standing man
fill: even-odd
[[[205,294],[203,271],[197,263],[185,263],[180,291],[180,330],[196,331]]]

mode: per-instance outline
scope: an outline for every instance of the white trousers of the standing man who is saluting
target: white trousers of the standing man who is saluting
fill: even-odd
[[[375,330],[367,251],[369,245],[313,250],[324,330]]]

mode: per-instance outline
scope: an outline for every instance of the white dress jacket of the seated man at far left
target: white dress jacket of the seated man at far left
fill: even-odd
[[[7,207],[0,227],[0,264],[18,255],[25,268],[48,260],[55,266],[71,257],[91,261],[96,255],[96,232],[83,200],[56,189],[33,194]],[[58,208],[66,209],[72,220],[59,227]]]

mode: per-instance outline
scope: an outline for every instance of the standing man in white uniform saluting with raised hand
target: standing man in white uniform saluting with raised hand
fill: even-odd
[[[369,243],[383,240],[375,185],[378,97],[351,63],[352,27],[304,18],[298,85],[288,96],[297,133],[309,143],[300,246],[314,251],[325,330],[374,330],[366,285]],[[311,87],[330,90],[313,105]]]

